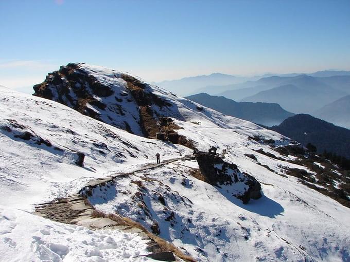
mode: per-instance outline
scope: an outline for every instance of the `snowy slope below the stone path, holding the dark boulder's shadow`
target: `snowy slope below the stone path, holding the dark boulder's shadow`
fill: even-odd
[[[226,188],[191,177],[187,166],[196,166],[196,162],[174,162],[152,172],[136,172],[116,179],[110,188],[96,188],[89,200],[98,210],[117,211],[149,230],[157,223],[163,238],[199,261],[251,261],[256,257],[341,261],[340,253],[348,259],[350,234],[344,229],[349,222],[342,217],[348,210],[334,200],[293,178],[273,174],[269,183],[262,183],[263,198],[244,205],[227,194]],[[130,182],[137,180],[144,189]]]

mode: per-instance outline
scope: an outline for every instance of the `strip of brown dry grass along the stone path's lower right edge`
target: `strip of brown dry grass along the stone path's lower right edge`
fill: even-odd
[[[161,238],[159,236],[156,236],[156,235],[152,234],[144,226],[142,226],[142,224],[140,224],[138,222],[135,222],[135,221],[131,220],[128,217],[123,217],[123,216],[120,216],[118,214],[105,214],[105,213],[103,213],[101,211],[97,211],[97,210],[93,211],[93,216],[94,217],[106,217],[106,218],[109,218],[109,219],[117,222],[117,224],[119,226],[130,226],[130,227],[141,229],[143,232],[145,232],[147,234],[147,236],[149,238],[153,239],[159,245],[160,251],[162,251],[162,252],[171,251],[176,256],[178,256],[179,258],[181,258],[181,259],[183,259],[185,261],[196,262],[195,259],[193,259],[189,255],[185,255],[184,253],[182,253],[173,244],[167,242],[166,240],[164,240],[163,238]]]

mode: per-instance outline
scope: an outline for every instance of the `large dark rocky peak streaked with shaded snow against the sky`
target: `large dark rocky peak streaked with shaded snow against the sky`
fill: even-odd
[[[153,87],[145,82],[83,63],[61,66],[33,88],[34,96],[59,102],[83,115],[148,138],[163,132],[161,118],[181,117],[170,100],[154,93]],[[173,124],[167,123],[167,141],[194,147],[175,131]]]

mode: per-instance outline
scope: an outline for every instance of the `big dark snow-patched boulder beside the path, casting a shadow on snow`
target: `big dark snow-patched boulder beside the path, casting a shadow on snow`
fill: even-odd
[[[261,197],[260,183],[251,175],[240,172],[237,165],[208,153],[198,153],[196,159],[200,172],[209,184],[225,187],[243,203],[248,203],[251,198]]]

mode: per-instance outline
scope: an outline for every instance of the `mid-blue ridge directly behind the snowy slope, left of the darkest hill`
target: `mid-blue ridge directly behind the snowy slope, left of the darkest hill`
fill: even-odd
[[[235,102],[224,97],[210,96],[206,93],[186,97],[187,99],[213,108],[225,115],[248,120],[266,126],[282,123],[288,117],[293,116],[278,104]]]

